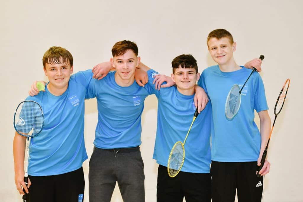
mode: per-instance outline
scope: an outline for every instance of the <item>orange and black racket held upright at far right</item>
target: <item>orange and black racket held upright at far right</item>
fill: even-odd
[[[284,85],[283,85],[283,88],[282,90],[280,91],[280,94],[278,96],[278,99],[276,101],[276,105],[275,105],[275,109],[274,109],[274,113],[275,113],[275,120],[274,120],[274,123],[272,124],[272,127],[271,127],[271,131],[270,131],[270,134],[269,134],[269,138],[268,138],[268,142],[267,142],[267,145],[266,145],[266,148],[263,152],[263,155],[262,155],[262,158],[261,158],[261,165],[259,167],[259,170],[258,170],[258,174],[257,174],[257,177],[261,177],[261,175],[259,174],[260,170],[262,169],[263,165],[264,165],[264,162],[265,162],[265,158],[266,158],[266,155],[267,155],[267,148],[268,148],[268,144],[269,144],[269,141],[270,141],[270,136],[272,134],[272,130],[274,129],[274,125],[275,125],[275,122],[276,122],[276,118],[278,116],[278,114],[281,112],[282,110],[282,107],[284,105],[284,102],[285,102],[285,98],[286,98],[286,94],[287,94],[287,91],[288,91],[288,87],[289,87],[289,84],[290,84],[290,79],[288,78]]]

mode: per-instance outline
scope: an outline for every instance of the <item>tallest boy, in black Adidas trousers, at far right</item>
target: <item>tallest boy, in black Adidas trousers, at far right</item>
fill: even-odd
[[[271,121],[261,76],[253,73],[241,94],[238,114],[225,117],[225,101],[234,84],[243,86],[251,70],[238,66],[233,58],[236,43],[225,29],[211,31],[208,50],[218,65],[205,69],[198,84],[208,94],[212,106],[211,196],[213,202],[232,202],[237,189],[238,201],[261,201],[263,175],[270,164],[265,161],[256,176],[270,133]],[[254,122],[254,110],[260,118],[260,131]]]

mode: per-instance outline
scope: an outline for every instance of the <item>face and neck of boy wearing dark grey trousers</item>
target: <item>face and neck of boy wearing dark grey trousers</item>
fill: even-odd
[[[135,70],[140,63],[134,51],[128,49],[123,55],[111,58],[112,66],[116,69],[115,81],[120,86],[130,86],[135,81]]]

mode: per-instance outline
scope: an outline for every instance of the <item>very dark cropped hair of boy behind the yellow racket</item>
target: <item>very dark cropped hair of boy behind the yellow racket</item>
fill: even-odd
[[[175,70],[181,66],[181,68],[194,68],[198,73],[197,60],[190,54],[183,54],[175,57],[171,61],[172,73],[175,74]]]

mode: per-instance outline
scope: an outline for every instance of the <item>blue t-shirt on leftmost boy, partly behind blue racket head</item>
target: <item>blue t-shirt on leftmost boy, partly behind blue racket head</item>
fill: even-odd
[[[75,171],[87,159],[84,144],[84,100],[92,70],[70,77],[67,90],[60,96],[51,94],[47,86],[26,100],[38,102],[44,113],[44,127],[31,138],[28,174],[58,175]]]

